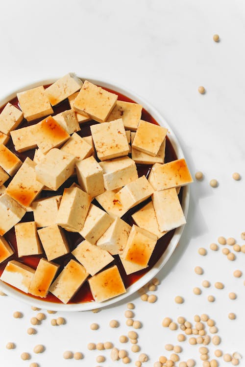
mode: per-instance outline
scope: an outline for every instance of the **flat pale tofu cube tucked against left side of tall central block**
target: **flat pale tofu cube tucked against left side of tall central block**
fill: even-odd
[[[48,227],[55,224],[61,198],[61,195],[51,196],[32,203],[31,207],[37,227]]]

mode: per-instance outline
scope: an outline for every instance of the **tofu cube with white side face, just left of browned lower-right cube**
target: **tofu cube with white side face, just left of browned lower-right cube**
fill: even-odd
[[[123,253],[131,226],[120,218],[116,218],[110,227],[97,241],[97,247],[112,255]]]

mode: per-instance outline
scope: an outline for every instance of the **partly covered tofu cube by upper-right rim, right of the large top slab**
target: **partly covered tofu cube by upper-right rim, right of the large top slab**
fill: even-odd
[[[136,131],[140,122],[142,106],[138,103],[117,101],[116,106],[106,121],[113,121],[117,118],[123,119],[123,125],[126,129]]]

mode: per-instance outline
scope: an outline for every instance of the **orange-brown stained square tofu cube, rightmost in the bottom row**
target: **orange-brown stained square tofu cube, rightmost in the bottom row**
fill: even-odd
[[[103,302],[126,293],[123,279],[116,265],[92,276],[88,282],[96,302]]]

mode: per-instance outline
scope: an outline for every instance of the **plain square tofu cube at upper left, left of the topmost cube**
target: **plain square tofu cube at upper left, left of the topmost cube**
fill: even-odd
[[[43,86],[17,93],[17,98],[27,121],[32,121],[53,113]]]

